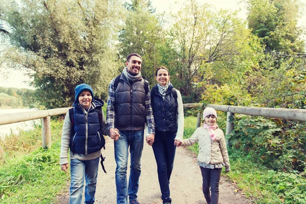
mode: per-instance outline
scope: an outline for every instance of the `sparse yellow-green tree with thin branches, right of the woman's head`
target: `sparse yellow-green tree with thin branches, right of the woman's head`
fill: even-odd
[[[198,101],[206,85],[241,81],[256,64],[261,47],[235,12],[191,0],[173,17],[164,62],[186,102]]]

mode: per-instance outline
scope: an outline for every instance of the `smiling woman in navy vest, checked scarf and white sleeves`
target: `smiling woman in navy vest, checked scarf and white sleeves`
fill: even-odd
[[[157,162],[158,180],[163,203],[171,203],[169,181],[173,169],[176,146],[184,133],[184,112],[180,91],[170,83],[166,67],[156,70],[158,82],[151,90],[151,104],[155,120],[155,139],[152,144]]]

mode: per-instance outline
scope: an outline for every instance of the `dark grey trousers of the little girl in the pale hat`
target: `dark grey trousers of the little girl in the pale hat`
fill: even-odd
[[[203,177],[202,190],[207,203],[218,204],[219,182],[222,168],[209,169],[200,166],[200,169]],[[210,193],[209,188],[211,188],[212,194]]]

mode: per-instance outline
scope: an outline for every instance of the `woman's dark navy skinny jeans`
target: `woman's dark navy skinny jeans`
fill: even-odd
[[[176,132],[156,131],[152,145],[157,163],[158,181],[160,183],[163,203],[171,202],[169,183],[176,149],[174,145],[175,136]]]

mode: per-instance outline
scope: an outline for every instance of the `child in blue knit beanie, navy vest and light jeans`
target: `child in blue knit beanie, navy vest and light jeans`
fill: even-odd
[[[105,145],[103,135],[109,135],[109,131],[103,111],[98,110],[104,103],[93,98],[92,88],[88,84],[80,84],[74,91],[73,118],[70,120],[67,112],[63,125],[60,165],[61,169],[67,172],[67,154],[70,148],[69,203],[81,204],[84,178],[85,203],[94,203],[99,158],[101,148]]]

